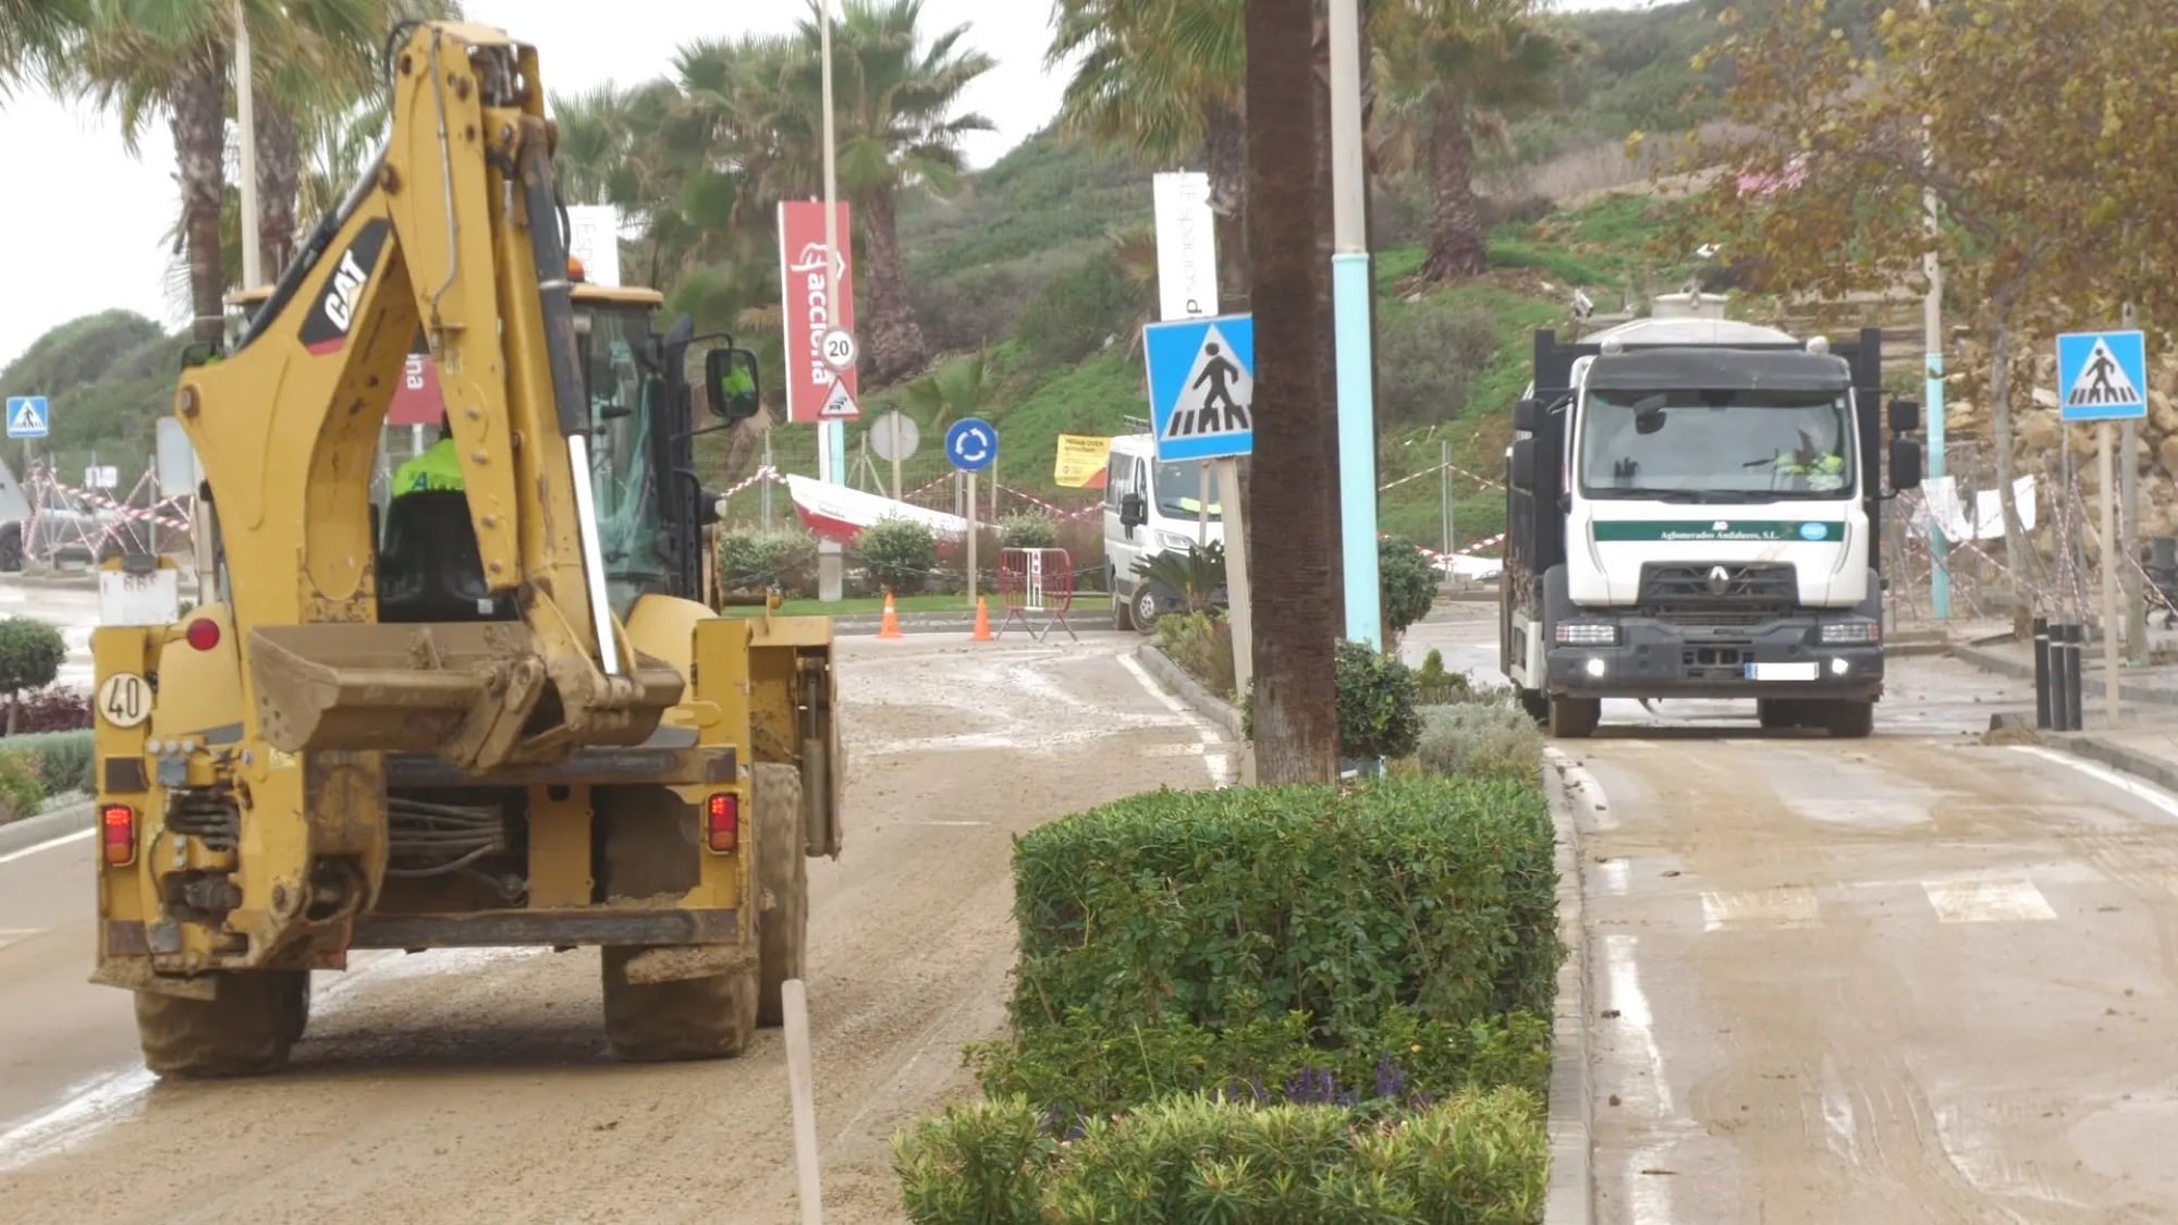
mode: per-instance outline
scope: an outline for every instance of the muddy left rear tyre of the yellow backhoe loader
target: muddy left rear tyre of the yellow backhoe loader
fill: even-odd
[[[309,974],[222,974],[209,1000],[137,992],[144,1066],[172,1079],[261,1077],[287,1064],[307,1022]]]

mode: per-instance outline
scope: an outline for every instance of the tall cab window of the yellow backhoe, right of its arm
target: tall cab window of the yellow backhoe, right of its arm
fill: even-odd
[[[575,307],[584,390],[590,397],[590,488],[612,610],[627,617],[645,591],[664,591],[666,560],[656,473],[664,375],[649,355],[647,307]]]

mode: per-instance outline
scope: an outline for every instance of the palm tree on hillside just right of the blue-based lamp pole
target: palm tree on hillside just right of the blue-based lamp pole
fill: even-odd
[[[1503,140],[1505,113],[1546,105],[1573,46],[1535,20],[1535,0],[1383,0],[1374,15],[1385,81],[1387,161],[1429,174],[1422,283],[1490,266],[1475,198],[1475,140]]]

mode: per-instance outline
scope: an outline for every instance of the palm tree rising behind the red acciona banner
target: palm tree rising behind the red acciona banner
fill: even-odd
[[[767,201],[823,192],[823,61],[815,4],[802,20],[797,54],[780,74],[773,105],[741,122]],[[865,368],[878,381],[900,379],[928,362],[900,253],[900,192],[917,185],[952,192],[965,168],[960,137],[993,131],[991,120],[956,113],[956,107],[995,61],[960,46],[967,26],[923,46],[921,15],[921,0],[847,0],[832,28],[839,194],[854,203],[862,240],[856,288],[867,314],[856,331]]]

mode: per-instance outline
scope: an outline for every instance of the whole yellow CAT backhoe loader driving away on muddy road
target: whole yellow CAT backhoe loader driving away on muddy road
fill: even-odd
[[[205,602],[91,636],[91,979],[155,1072],[250,1075],[351,950],[599,946],[621,1057],[741,1055],[843,765],[830,619],[701,602],[695,412],[754,414],[756,357],[573,281],[531,46],[412,22],[388,57],[379,161],[185,360]],[[386,490],[418,331],[460,480]]]

